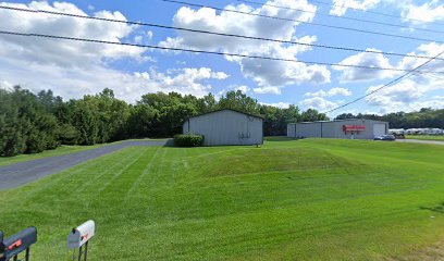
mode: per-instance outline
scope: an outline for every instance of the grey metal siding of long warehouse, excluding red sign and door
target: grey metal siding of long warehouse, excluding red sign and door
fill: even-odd
[[[344,139],[373,139],[374,124],[384,124],[385,134],[388,130],[388,123],[372,120],[346,120],[332,122],[297,123],[287,125],[287,136],[296,138],[344,138]],[[366,130],[359,133],[344,133],[344,125],[365,125]],[[296,132],[294,130],[296,129]]]

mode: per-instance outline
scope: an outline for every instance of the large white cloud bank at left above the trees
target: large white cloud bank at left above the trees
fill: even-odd
[[[48,10],[87,15],[73,3],[33,1],[28,4],[0,3],[23,9]],[[97,11],[97,17],[126,20],[120,12]],[[0,29],[22,33],[53,34],[110,41],[132,39],[149,40],[152,32],[135,35],[136,27],[122,23],[103,23],[74,17],[0,10]],[[137,37],[137,36],[143,36]],[[223,72],[208,67],[178,69],[158,72],[131,73],[112,69],[110,61],[130,59],[146,62],[147,49],[51,40],[42,38],[0,36],[0,86],[11,88],[21,85],[34,91],[52,89],[64,98],[79,98],[84,94],[97,94],[108,87],[116,97],[134,102],[141,94],[177,91],[203,96],[211,89],[208,83],[229,77]],[[147,59],[148,58],[148,59]],[[125,60],[128,61],[128,60]]]

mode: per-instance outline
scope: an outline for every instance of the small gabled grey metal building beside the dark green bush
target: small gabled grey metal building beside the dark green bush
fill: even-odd
[[[203,135],[203,146],[263,144],[263,120],[224,109],[188,119],[184,134]]]

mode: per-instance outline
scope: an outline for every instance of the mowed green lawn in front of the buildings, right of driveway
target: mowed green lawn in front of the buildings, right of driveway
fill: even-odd
[[[66,260],[94,219],[90,260],[386,260],[444,239],[444,148],[272,139],[261,148],[132,147],[0,191],[7,235]]]

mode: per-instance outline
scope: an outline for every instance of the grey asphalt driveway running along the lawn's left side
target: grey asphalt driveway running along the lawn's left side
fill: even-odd
[[[18,187],[44,176],[61,172],[85,161],[109,154],[130,146],[165,146],[168,141],[123,141],[70,154],[49,157],[0,166],[0,190]]]

